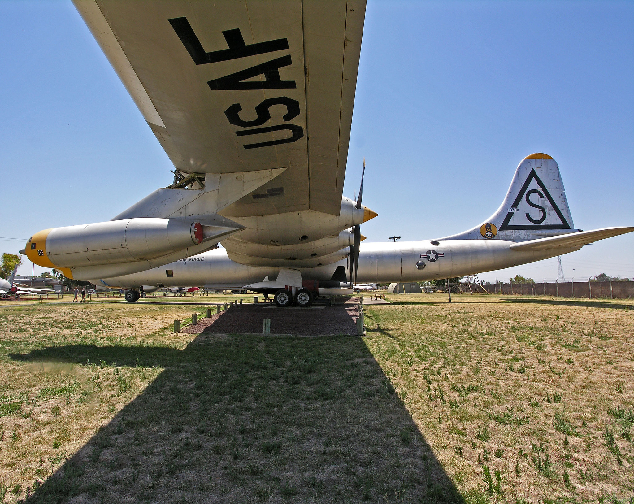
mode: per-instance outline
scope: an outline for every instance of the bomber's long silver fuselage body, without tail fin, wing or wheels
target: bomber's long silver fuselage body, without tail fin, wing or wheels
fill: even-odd
[[[581,248],[518,252],[510,249],[513,243],[506,240],[362,243],[358,282],[427,281],[475,275],[540,261]],[[338,266],[346,268],[349,278],[347,261],[343,260],[318,268],[300,269],[302,280],[330,280]],[[265,276],[274,279],[279,272],[280,268],[238,264],[231,261],[225,249],[216,249],[141,273],[91,281],[100,287],[119,288],[139,288],[142,285],[242,287],[262,281]]]

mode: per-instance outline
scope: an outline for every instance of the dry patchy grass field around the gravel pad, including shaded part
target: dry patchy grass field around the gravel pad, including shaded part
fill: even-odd
[[[0,306],[0,497],[632,502],[634,303],[388,299],[365,338],[171,333],[202,306]]]

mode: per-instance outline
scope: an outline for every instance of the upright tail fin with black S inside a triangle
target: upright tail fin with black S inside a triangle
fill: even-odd
[[[500,208],[484,223],[444,240],[510,240],[573,233],[573,217],[557,162],[547,154],[531,154],[517,166]]]

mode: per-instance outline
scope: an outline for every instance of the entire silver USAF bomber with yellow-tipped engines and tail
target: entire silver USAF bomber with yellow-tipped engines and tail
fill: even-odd
[[[557,163],[533,154],[481,226],[361,246],[360,224],[377,216],[363,175],[356,202],[342,193],[365,1],[75,6],[175,169],[111,221],[29,239],[21,252],[68,278],[126,288],[129,301],[205,285],[309,306],[356,282],[480,273],[634,231],[574,229]]]

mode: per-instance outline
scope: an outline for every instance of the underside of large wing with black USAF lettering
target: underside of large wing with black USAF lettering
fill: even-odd
[[[365,0],[74,2],[176,168],[287,168],[223,214],[339,215]]]

